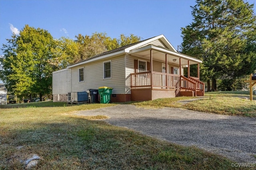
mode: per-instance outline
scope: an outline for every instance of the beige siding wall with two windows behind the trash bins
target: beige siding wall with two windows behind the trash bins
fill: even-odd
[[[111,61],[111,78],[104,79],[103,63]],[[78,69],[84,67],[84,82],[78,81]],[[124,94],[125,65],[124,55],[86,63],[72,68],[72,92],[82,92],[88,89],[98,89],[101,86],[114,88],[113,94]]]

